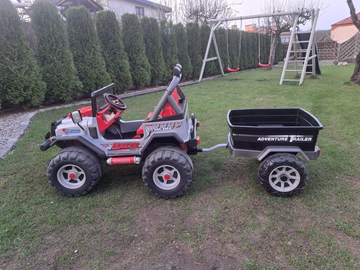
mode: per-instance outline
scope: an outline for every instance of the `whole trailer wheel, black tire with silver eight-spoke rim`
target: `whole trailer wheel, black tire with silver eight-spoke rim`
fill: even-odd
[[[288,153],[278,153],[266,158],[259,167],[260,184],[271,195],[292,197],[305,188],[307,168],[304,162]]]

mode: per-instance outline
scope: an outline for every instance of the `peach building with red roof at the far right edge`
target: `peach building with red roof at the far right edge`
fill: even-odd
[[[360,12],[356,15],[357,18],[360,19]],[[351,39],[357,32],[359,32],[359,30],[357,30],[354,23],[352,23],[351,17],[348,17],[331,25],[330,37],[338,43],[343,43]]]

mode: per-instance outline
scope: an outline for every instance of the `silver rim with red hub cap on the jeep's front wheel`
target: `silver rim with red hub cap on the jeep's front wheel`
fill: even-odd
[[[80,167],[71,164],[62,166],[57,176],[59,183],[69,189],[80,188],[86,180],[85,172]]]

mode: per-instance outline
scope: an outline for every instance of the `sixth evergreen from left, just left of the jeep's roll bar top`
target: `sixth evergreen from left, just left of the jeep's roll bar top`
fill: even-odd
[[[159,24],[155,18],[141,18],[146,56],[150,64],[151,85],[162,83],[165,75],[165,61],[162,54]]]

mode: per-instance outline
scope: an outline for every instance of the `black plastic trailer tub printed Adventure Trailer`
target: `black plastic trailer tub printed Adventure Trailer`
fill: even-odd
[[[234,148],[264,150],[270,145],[314,151],[323,125],[300,108],[235,109],[228,112]]]

